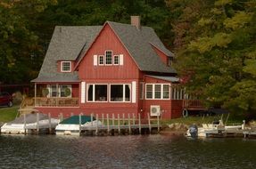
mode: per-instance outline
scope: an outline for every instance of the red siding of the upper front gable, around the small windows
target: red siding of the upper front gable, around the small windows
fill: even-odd
[[[104,55],[106,50],[111,50],[112,55],[123,54],[123,65],[94,66],[94,55]],[[95,43],[78,65],[78,75],[82,80],[137,79],[138,74],[139,69],[135,61],[108,24],[105,25]]]

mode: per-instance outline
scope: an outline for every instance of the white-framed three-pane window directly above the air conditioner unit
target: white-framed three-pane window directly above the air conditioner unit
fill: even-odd
[[[145,99],[169,100],[169,84],[145,84]]]

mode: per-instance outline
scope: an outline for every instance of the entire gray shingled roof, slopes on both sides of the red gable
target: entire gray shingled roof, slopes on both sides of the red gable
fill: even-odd
[[[128,49],[138,68],[142,71],[176,73],[167,67],[153,51],[152,44],[168,56],[172,52],[161,43],[153,28],[107,21],[120,41]],[[57,71],[58,60],[82,60],[88,48],[95,41],[103,26],[56,26],[39,75],[32,82],[78,82],[78,72],[61,73]]]

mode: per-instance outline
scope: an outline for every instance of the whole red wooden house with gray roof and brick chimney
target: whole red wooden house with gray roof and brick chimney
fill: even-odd
[[[106,21],[103,26],[54,29],[35,83],[43,113],[180,117],[184,93],[171,68],[173,54],[153,28]]]

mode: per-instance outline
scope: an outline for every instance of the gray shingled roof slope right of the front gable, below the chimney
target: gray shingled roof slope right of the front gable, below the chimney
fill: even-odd
[[[110,24],[117,36],[120,37],[120,41],[126,46],[140,70],[176,73],[175,69],[167,67],[157,53],[153,51],[150,43],[160,47],[161,51],[168,51],[154,33],[153,28],[142,27],[138,30],[135,26],[129,24],[111,21],[107,21],[107,23]]]

